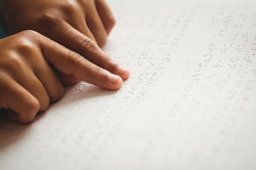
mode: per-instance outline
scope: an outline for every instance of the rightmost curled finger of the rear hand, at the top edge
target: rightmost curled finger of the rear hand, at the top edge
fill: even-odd
[[[115,25],[115,17],[105,0],[95,0],[95,4],[105,30],[109,34]]]

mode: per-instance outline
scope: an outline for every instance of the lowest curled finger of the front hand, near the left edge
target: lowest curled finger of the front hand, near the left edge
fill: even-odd
[[[7,111],[8,116],[18,123],[26,124],[33,121],[40,108],[38,100],[10,77],[1,84],[1,89],[5,90],[1,91],[3,98],[0,99],[0,103],[5,109],[13,110]]]

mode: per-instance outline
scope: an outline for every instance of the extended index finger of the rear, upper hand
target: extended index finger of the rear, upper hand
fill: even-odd
[[[65,29],[60,30],[59,32],[61,36],[58,36],[58,38],[56,37],[56,41],[62,42],[63,46],[80,53],[90,62],[113,74],[119,75],[122,79],[127,79],[130,76],[130,71],[127,68],[115,60],[112,60],[99,48],[99,46],[69,24],[65,26]]]

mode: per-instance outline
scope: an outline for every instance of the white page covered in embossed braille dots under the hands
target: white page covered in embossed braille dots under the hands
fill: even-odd
[[[256,2],[108,0],[117,91],[80,82],[28,125],[0,119],[1,170],[255,170]]]

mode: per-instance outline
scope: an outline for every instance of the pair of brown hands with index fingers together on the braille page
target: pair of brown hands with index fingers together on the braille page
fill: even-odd
[[[100,49],[115,25],[104,0],[0,3],[11,35],[0,40],[0,112],[11,120],[33,121],[61,99],[62,85],[83,80],[116,90],[129,77],[127,68]]]

